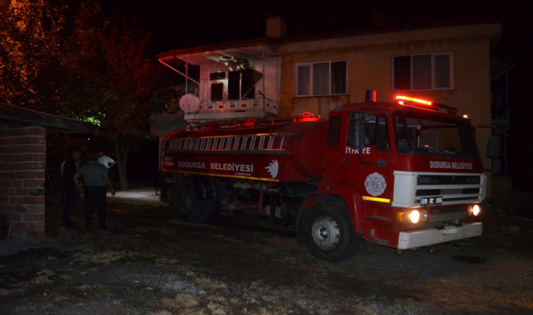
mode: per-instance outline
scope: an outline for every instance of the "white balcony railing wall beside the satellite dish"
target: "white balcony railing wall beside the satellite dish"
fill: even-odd
[[[212,101],[201,99],[200,108],[185,113],[185,120],[215,120],[234,118],[278,118],[279,104],[257,94],[253,99]]]

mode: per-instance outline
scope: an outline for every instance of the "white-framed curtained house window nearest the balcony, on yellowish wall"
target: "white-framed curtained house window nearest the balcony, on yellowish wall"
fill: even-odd
[[[346,94],[346,61],[296,65],[296,96]]]

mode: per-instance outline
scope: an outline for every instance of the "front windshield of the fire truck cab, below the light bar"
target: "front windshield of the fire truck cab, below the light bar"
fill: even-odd
[[[400,153],[479,158],[471,124],[456,118],[400,109],[393,113]]]

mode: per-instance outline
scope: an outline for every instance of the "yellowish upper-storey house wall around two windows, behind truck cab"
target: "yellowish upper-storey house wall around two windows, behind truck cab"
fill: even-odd
[[[377,101],[392,102],[398,94],[429,99],[457,107],[458,115],[468,115],[473,125],[490,125],[490,38],[500,32],[499,25],[467,25],[285,44],[278,52],[283,56],[280,118],[304,111],[327,118],[336,106],[364,102],[365,91],[376,90]],[[432,52],[452,52],[453,88],[394,92],[392,57]],[[296,64],[335,60],[347,61],[347,94],[295,97]],[[489,136],[490,129],[476,130],[486,168],[491,165],[485,154]]]

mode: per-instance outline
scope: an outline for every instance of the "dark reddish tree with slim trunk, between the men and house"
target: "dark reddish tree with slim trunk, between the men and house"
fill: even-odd
[[[145,56],[149,35],[118,15],[97,25],[98,13],[97,5],[82,5],[67,41],[63,108],[100,126],[97,134],[112,143],[121,188],[127,189],[128,154],[150,138],[149,97],[158,69]]]

